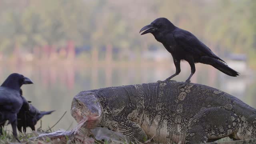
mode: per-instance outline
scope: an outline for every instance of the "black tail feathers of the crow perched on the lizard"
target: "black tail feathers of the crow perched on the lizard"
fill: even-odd
[[[228,65],[224,64],[223,62],[221,62],[216,58],[212,58],[210,56],[204,56],[203,58],[201,58],[201,60],[203,64],[210,64],[211,66],[213,66],[214,68],[217,68],[224,74],[227,74],[229,76],[235,76],[235,77],[239,76],[238,72],[236,72],[235,70],[230,68]]]

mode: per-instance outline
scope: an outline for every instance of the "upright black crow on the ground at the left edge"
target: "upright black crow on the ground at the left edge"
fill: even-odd
[[[20,93],[20,87],[23,84],[33,84],[33,82],[21,74],[13,73],[10,74],[10,76],[8,76],[8,78],[6,78],[6,80],[0,86],[1,130],[2,126],[8,120],[8,124],[12,125],[12,133],[17,140],[17,114],[22,105],[26,103],[26,99],[24,99]]]

